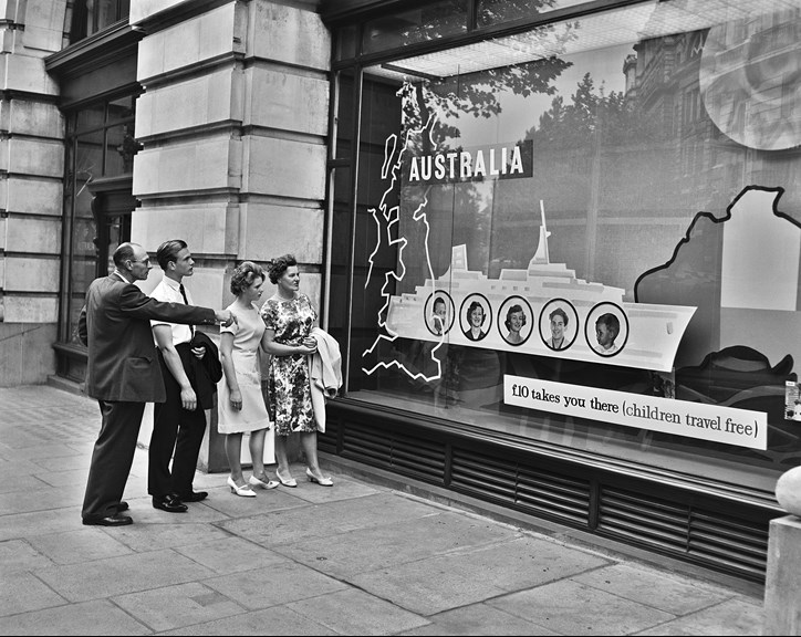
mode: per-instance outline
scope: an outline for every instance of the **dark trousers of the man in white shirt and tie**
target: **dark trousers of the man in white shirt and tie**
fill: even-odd
[[[206,411],[199,404],[195,411],[184,409],[180,403],[180,385],[167,368],[160,353],[158,358],[167,400],[156,403],[153,410],[147,492],[158,498],[168,493],[186,495],[193,492],[197,458],[206,434]]]

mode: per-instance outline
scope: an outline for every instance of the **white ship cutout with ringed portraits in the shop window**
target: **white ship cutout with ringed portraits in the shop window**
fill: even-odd
[[[526,270],[503,269],[498,279],[488,279],[468,270],[467,247],[456,246],[450,268],[441,276],[427,279],[415,293],[389,299],[387,332],[393,337],[670,372],[696,307],[624,302],[625,290],[578,279],[565,263],[552,263],[550,232],[542,202],[540,206],[540,240]],[[444,334],[434,317],[435,299],[444,299],[448,306]],[[466,334],[474,302],[487,314],[478,341]],[[527,316],[519,343],[510,337],[506,324],[514,305]],[[556,309],[568,316],[561,348],[554,348],[551,341],[550,315]],[[620,323],[614,347],[606,351],[597,343],[595,328],[604,314],[615,315]]]

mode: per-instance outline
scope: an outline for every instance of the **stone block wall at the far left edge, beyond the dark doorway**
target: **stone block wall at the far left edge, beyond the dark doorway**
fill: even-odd
[[[55,372],[64,122],[44,59],[66,2],[0,1],[0,386]]]

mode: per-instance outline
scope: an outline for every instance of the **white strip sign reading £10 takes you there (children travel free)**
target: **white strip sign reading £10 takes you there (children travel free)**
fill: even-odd
[[[503,376],[507,405],[676,434],[750,449],[768,448],[768,415],[703,403]]]

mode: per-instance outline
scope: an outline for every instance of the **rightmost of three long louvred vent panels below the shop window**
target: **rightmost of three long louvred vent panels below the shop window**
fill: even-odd
[[[597,530],[724,571],[764,577],[767,520],[746,521],[653,495],[602,487]]]

